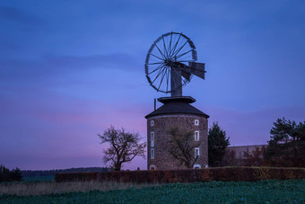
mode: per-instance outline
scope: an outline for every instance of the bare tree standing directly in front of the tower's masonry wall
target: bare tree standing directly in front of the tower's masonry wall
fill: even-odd
[[[194,132],[179,128],[171,128],[168,131],[170,135],[168,141],[168,152],[177,159],[180,164],[188,169],[193,168],[198,159],[195,155],[195,148],[200,146],[199,141],[194,141]]]

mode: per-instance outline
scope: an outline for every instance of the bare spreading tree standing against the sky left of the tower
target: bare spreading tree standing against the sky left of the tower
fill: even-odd
[[[126,132],[125,129],[115,129],[111,126],[98,135],[100,144],[109,143],[109,148],[103,149],[105,164],[111,164],[115,171],[120,171],[123,163],[131,162],[136,155],[145,157],[146,143],[140,143],[139,133]]]

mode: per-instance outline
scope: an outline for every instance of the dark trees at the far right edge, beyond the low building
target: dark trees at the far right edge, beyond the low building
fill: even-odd
[[[305,121],[278,119],[270,130],[266,147],[266,164],[273,166],[305,166]]]

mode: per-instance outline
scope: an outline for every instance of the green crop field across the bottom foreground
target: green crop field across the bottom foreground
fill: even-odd
[[[176,183],[135,187],[37,196],[3,194],[0,203],[305,203],[305,180]]]

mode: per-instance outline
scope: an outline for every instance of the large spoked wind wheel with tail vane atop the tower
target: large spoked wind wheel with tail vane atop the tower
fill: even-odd
[[[146,78],[157,92],[182,96],[182,86],[192,75],[205,79],[205,64],[196,63],[192,40],[179,32],[168,32],[153,42],[145,60]]]

